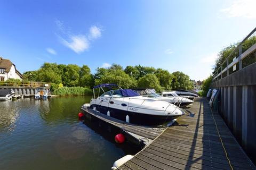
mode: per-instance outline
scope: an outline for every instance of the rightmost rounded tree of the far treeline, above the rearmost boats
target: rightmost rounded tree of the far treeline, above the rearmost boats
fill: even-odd
[[[173,72],[174,78],[172,80],[172,89],[193,89],[193,83],[190,81],[189,76],[182,72]]]

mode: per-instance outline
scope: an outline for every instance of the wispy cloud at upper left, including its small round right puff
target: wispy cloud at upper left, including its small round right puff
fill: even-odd
[[[71,31],[66,29],[64,24],[59,20],[56,20],[55,24],[59,30],[57,35],[61,43],[77,54],[89,49],[91,40],[101,37],[101,29],[94,25],[90,28],[90,32],[87,34],[88,36],[86,36],[86,34],[77,35],[71,33]]]

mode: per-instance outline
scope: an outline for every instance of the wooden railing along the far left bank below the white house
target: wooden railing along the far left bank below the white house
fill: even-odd
[[[0,81],[0,86],[10,87],[46,87],[50,88],[51,83],[37,81]]]

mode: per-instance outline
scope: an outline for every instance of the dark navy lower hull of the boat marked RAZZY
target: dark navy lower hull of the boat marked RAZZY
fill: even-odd
[[[137,113],[137,112],[131,112],[131,111],[124,111],[121,109],[101,106],[101,105],[91,105],[90,109],[93,109],[93,107],[96,108],[97,111],[99,111],[101,114],[107,115],[107,112],[109,111],[110,116],[117,118],[121,121],[126,121],[126,116],[129,116],[130,123],[132,124],[139,124],[139,125],[162,125],[164,123],[167,123],[174,118],[177,118],[181,115],[150,115],[150,114],[143,114],[143,113]]]

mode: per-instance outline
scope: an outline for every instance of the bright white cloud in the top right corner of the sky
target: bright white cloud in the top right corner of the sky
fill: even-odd
[[[230,7],[223,8],[222,13],[228,17],[256,18],[255,0],[236,0]]]

